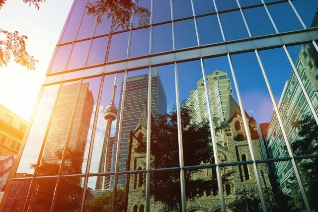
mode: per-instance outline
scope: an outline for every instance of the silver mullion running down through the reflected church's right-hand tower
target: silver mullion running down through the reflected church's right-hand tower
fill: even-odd
[[[257,167],[257,164],[255,163],[253,145],[252,145],[252,141],[251,141],[251,137],[250,137],[249,127],[247,124],[245,110],[243,107],[243,102],[242,102],[241,95],[239,92],[238,82],[236,79],[236,75],[234,73],[234,69],[232,66],[232,61],[231,61],[231,57],[230,57],[229,53],[228,53],[228,60],[229,60],[229,64],[230,64],[230,68],[231,68],[231,72],[232,72],[232,76],[233,76],[235,89],[237,91],[237,95],[238,95],[238,99],[239,99],[239,108],[240,108],[240,113],[241,113],[242,118],[243,118],[244,128],[246,131],[246,138],[247,138],[247,143],[249,146],[249,152],[250,152],[251,160],[253,161],[253,168],[254,168],[254,174],[255,174],[256,184],[257,184],[257,188],[258,188],[258,193],[259,193],[259,199],[260,199],[260,202],[262,204],[263,212],[267,212],[266,201],[265,201],[264,194],[263,194],[263,188],[262,188],[262,184],[261,184],[260,177],[259,177],[258,167]]]

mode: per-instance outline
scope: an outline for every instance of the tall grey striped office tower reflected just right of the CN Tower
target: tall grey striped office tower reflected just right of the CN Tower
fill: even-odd
[[[120,90],[120,104],[119,112],[122,109],[121,99],[123,94],[123,86]],[[148,93],[148,74],[127,77],[125,105],[123,111],[123,126],[121,132],[121,151],[119,170],[126,170],[126,161],[129,152],[129,137],[130,132],[134,131],[140,117],[147,106],[147,93]],[[152,75],[152,106],[151,113],[153,114],[155,122],[158,120],[159,114],[165,114],[167,111],[166,95],[160,80],[158,71],[155,69]],[[120,117],[119,117],[120,118]],[[111,170],[115,170],[116,148],[118,139],[119,122],[116,125],[115,143],[113,145],[113,156],[111,161]],[[113,187],[113,177],[111,177],[110,188]],[[118,186],[123,187],[126,185],[126,176],[118,178]]]

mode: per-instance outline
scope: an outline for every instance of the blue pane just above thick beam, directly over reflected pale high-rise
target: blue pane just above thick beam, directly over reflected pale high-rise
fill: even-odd
[[[203,16],[196,20],[201,45],[223,41],[217,15]]]

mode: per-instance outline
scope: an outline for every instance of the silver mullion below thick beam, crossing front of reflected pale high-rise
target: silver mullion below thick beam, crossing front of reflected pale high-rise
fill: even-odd
[[[216,172],[217,172],[217,181],[218,181],[218,188],[219,188],[219,195],[220,195],[221,211],[226,212],[223,183],[222,183],[222,174],[221,174],[221,168],[219,166],[219,153],[218,153],[217,139],[216,139],[216,135],[215,135],[214,120],[213,120],[213,112],[211,109],[210,95],[209,95],[209,91],[208,91],[209,85],[207,82],[207,77],[205,75],[204,62],[203,62],[202,58],[200,58],[200,62],[201,62],[201,70],[202,70],[203,82],[204,82],[204,91],[205,91],[207,104],[208,104],[210,131],[211,131],[212,146],[213,146],[213,156],[214,156],[215,164],[217,165]]]

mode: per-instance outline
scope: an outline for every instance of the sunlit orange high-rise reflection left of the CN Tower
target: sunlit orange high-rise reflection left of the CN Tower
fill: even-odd
[[[46,163],[61,163],[61,157],[57,154],[57,150],[63,150],[70,124],[73,105],[78,95],[78,104],[75,111],[74,122],[68,143],[68,148],[77,152],[81,162],[76,164],[76,169],[81,169],[86,138],[88,135],[90,117],[94,107],[94,99],[89,82],[83,82],[78,94],[79,82],[63,85],[58,97],[56,108],[49,127],[46,145],[43,151],[43,161]],[[71,158],[72,159],[72,158]],[[74,164],[72,164],[74,166]],[[41,165],[40,165],[41,166]],[[39,173],[41,175],[41,173]]]

